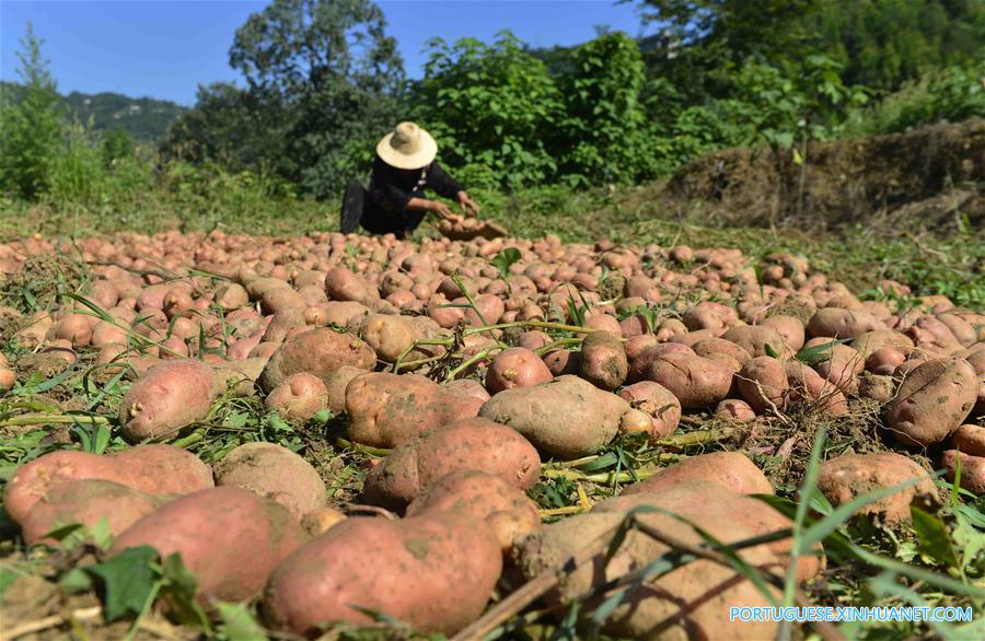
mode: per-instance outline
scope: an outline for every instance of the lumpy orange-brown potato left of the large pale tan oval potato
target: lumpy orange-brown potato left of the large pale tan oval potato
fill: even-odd
[[[362,445],[396,447],[457,413],[452,400],[437,383],[418,374],[363,374],[346,387],[346,432]]]

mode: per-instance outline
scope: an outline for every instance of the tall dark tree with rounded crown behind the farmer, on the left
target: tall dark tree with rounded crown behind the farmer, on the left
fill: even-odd
[[[199,90],[169,132],[171,158],[254,168],[335,195],[366,172],[372,142],[402,119],[403,61],[369,0],[275,0],[230,48],[246,89]]]

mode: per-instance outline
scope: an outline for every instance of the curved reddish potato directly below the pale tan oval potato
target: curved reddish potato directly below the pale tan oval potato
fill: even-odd
[[[439,478],[477,469],[528,490],[541,474],[541,457],[519,432],[483,418],[448,423],[397,446],[366,478],[366,500],[401,509]]]

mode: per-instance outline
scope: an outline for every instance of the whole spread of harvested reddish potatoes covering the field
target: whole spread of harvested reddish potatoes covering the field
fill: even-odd
[[[370,623],[376,611],[453,634],[494,592],[596,545],[545,596],[564,616],[561,606],[601,603],[593,590],[669,549],[634,531],[605,563],[599,541],[640,505],[726,543],[788,527],[745,496],[773,488],[734,452],[682,457],[590,511],[542,523],[526,490],[543,461],[592,455],[621,434],[657,443],[682,429],[683,412],[755,426],[811,413],[849,420],[856,406],[878,404],[895,452],[825,462],[819,487],[834,504],[924,479],[867,508],[908,518],[914,496],[936,492],[908,453],[952,473],[960,456],[962,487],[985,492],[985,314],[909,298],[889,281],[882,289],[895,298],[861,301],[800,256],[554,236],[415,244],[216,231],[60,247],[32,238],[0,245],[0,271],[56,249],[81,252],[100,312],[68,301],[19,318],[11,340],[65,366],[126,364],[134,381],[115,421],[134,446],[44,455],[16,471],[4,509],[27,544],[54,545],[45,537],[57,524],[106,518],[109,556],[139,545],[181,552],[205,603],[259,598],[276,630],[315,636],[332,622]],[[519,259],[502,259],[510,254]],[[0,359],[0,389],[18,372]],[[344,413],[349,441],[390,450],[369,469],[361,501],[398,517],[346,517],[327,504],[325,479],[277,444],[244,444],[211,466],[146,444],[178,436],[230,394],[258,395],[296,423]],[[664,512],[638,518],[700,543]],[[784,574],[789,551],[780,540],[742,556]],[[821,550],[800,558],[798,575],[815,576],[823,562]],[[767,601],[702,560],[633,588],[603,631],[775,633],[774,623],[730,622],[727,604]]]

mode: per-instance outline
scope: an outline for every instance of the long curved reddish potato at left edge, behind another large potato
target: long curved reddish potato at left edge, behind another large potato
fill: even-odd
[[[212,487],[212,471],[173,445],[137,445],[103,456],[58,451],[22,465],[3,490],[3,508],[23,523],[32,508],[60,483],[102,479],[149,494],[184,494]]]

